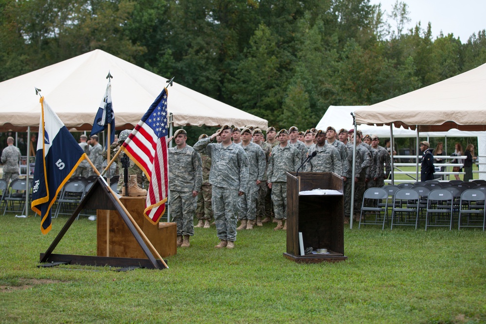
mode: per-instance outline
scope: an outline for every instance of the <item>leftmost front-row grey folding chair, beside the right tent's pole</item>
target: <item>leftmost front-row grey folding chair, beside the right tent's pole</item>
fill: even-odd
[[[384,201],[384,206],[380,205]],[[372,219],[366,220],[366,216]],[[361,205],[360,224],[364,225],[382,225],[385,228],[385,220],[388,222],[388,192],[383,188],[369,188],[364,191],[363,203]]]

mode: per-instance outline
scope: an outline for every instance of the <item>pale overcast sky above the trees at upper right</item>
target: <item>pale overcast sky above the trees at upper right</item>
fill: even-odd
[[[370,0],[371,4],[382,3],[382,10],[389,14],[396,0]],[[408,4],[412,21],[406,26],[406,31],[415,27],[421,21],[422,29],[432,24],[432,34],[454,34],[461,42],[467,43],[472,33],[486,29],[486,0],[402,0]],[[396,28],[388,18],[392,27]],[[405,32],[405,31],[404,31]]]

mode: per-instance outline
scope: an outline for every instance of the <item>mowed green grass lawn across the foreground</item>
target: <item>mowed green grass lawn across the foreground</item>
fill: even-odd
[[[166,270],[38,269],[66,218],[0,217],[1,323],[486,323],[486,233],[345,230],[339,263],[282,256],[272,224],[218,250],[195,228]],[[96,255],[96,224],[74,222],[54,253]]]

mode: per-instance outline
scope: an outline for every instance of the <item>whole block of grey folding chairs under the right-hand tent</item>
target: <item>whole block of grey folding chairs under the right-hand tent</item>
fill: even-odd
[[[389,197],[392,197],[391,204]],[[384,186],[383,188],[369,188],[364,192],[361,208],[361,224],[381,225],[385,222],[393,226],[415,226],[425,221],[425,229],[430,226],[448,226],[452,229],[454,212],[458,212],[458,228],[481,227],[485,230],[486,188],[465,189],[457,187],[429,188],[414,186],[413,188],[399,188],[398,186]],[[391,211],[391,222],[389,214]],[[423,213],[425,212],[425,219]],[[465,215],[463,217],[463,215]],[[463,218],[465,218],[463,220]],[[462,222],[464,221],[464,222]]]

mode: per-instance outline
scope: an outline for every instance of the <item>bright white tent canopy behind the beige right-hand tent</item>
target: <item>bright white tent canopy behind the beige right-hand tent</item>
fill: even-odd
[[[353,128],[352,112],[359,111],[360,109],[369,108],[371,106],[329,106],[328,110],[319,121],[316,129],[326,130],[328,126],[332,126],[339,131],[341,128],[347,130]],[[375,126],[362,124],[358,126],[358,129],[363,134],[378,135],[378,137],[390,137],[390,126]],[[466,132],[459,131],[457,129],[450,129],[447,132],[423,132],[420,133],[421,137],[476,137],[482,136],[482,132]],[[395,137],[416,137],[417,132],[411,129],[405,129],[403,127],[393,127],[393,136]]]

